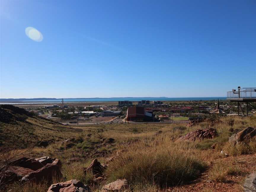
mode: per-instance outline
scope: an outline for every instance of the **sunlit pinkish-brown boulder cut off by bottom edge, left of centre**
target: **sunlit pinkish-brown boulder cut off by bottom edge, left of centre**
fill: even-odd
[[[69,180],[52,184],[47,192],[91,192],[91,190],[79,180]]]

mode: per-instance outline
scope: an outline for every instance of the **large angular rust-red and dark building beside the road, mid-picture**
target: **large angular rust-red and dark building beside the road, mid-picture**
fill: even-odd
[[[144,107],[133,106],[127,109],[127,121],[152,121],[153,111],[145,111]]]

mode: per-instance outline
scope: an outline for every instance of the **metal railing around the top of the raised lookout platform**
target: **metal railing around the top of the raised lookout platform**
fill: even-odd
[[[241,88],[239,91],[228,91],[227,98],[256,98],[256,88]]]

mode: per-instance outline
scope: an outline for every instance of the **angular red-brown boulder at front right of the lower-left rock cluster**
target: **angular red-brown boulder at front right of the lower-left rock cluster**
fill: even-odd
[[[31,180],[37,183],[40,182],[41,180],[52,181],[53,177],[62,177],[60,167],[57,164],[48,163],[41,169],[38,169],[34,172],[29,173],[28,175],[25,175],[24,177],[22,177],[21,181],[27,182]]]

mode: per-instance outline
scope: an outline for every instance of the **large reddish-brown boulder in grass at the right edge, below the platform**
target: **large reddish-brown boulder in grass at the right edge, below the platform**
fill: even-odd
[[[236,143],[249,143],[249,141],[254,138],[256,139],[256,129],[247,127],[246,129],[231,135],[228,142],[232,145],[236,145]]]

